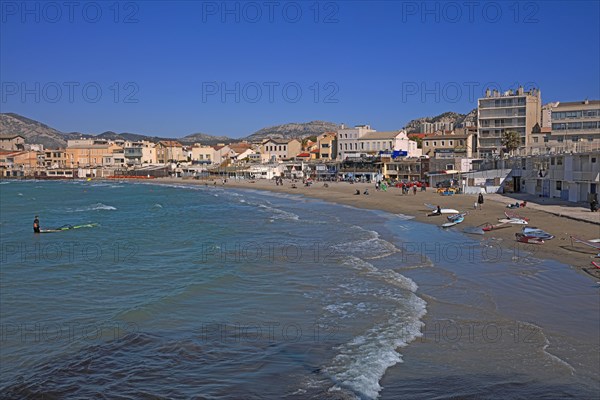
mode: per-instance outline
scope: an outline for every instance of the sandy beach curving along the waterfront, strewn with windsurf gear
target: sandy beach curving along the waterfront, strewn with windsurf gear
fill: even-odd
[[[485,196],[485,202],[481,210],[475,210],[473,205],[476,201],[475,195],[453,195],[442,196],[433,189],[427,191],[417,191],[413,194],[403,195],[401,190],[395,187],[388,188],[387,191],[376,191],[374,184],[347,182],[328,182],[328,187],[324,183],[316,182],[311,186],[304,186],[302,182],[295,183],[284,181],[283,186],[275,185],[271,180],[256,181],[236,181],[228,180],[226,184],[221,181],[202,181],[194,179],[156,179],[156,183],[169,184],[195,184],[218,186],[220,188],[241,188],[253,190],[268,190],[272,192],[282,192],[298,194],[312,198],[322,199],[328,202],[351,205],[357,208],[366,208],[374,210],[387,211],[393,214],[405,214],[414,216],[416,221],[441,225],[447,222],[445,216],[428,217],[430,212],[424,203],[440,205],[442,208],[454,208],[461,212],[468,211],[465,221],[453,229],[462,231],[467,226],[478,226],[485,223],[498,223],[499,218],[504,218],[504,212],[509,210],[506,205],[509,201],[501,196]],[[216,184],[216,185],[215,185]],[[362,194],[365,189],[369,189],[369,195]],[[361,195],[355,195],[356,190],[360,190]],[[498,201],[498,200],[500,201]],[[556,207],[554,207],[556,209]],[[510,211],[510,210],[509,210]],[[542,245],[517,243],[515,233],[520,232],[521,226],[514,225],[505,229],[486,232],[485,235],[470,235],[472,237],[481,237],[485,239],[494,238],[497,243],[506,249],[518,249],[531,252],[534,257],[553,259],[563,264],[572,266],[594,279],[600,278],[600,269],[591,265],[597,251],[592,247],[581,243],[573,242],[571,235],[577,235],[585,239],[600,238],[600,214],[594,215],[590,221],[580,221],[572,218],[554,215],[550,210],[544,211],[544,206],[525,207],[515,210],[519,215],[529,219],[529,226],[543,229],[553,235],[555,238],[546,241]],[[555,210],[553,210],[555,211]],[[597,218],[596,218],[597,217]]]

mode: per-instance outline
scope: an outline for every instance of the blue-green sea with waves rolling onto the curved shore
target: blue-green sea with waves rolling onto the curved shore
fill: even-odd
[[[3,399],[600,396],[600,285],[541,246],[77,180],[1,181],[0,240]]]

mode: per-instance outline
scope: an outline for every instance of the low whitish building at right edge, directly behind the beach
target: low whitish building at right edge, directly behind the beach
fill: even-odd
[[[511,173],[512,191],[588,202],[600,190],[600,153],[523,157]]]

